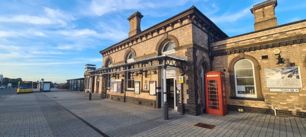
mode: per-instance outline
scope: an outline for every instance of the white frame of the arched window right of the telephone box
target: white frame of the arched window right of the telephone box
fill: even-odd
[[[252,64],[252,69],[253,69],[253,79],[254,79],[254,95],[248,95],[248,94],[238,94],[238,85],[237,85],[237,76],[236,76],[236,64],[237,62],[241,61],[241,60],[247,60]],[[248,60],[248,59],[241,59],[235,62],[234,64],[234,76],[235,76],[235,88],[236,88],[236,97],[247,97],[247,98],[257,98],[257,89],[256,89],[256,79],[255,79],[255,71],[254,71],[254,64],[252,61]],[[250,68],[249,68],[250,69]],[[243,69],[239,69],[239,70],[243,70]],[[251,78],[251,77],[238,77],[238,78]],[[253,86],[253,85],[244,85],[244,86]]]

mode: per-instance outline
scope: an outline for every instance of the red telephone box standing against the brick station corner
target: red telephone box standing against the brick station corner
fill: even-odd
[[[224,116],[227,114],[225,75],[211,71],[205,74],[206,112]]]

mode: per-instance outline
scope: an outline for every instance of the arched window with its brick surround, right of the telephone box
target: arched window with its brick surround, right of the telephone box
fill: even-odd
[[[240,53],[230,61],[228,73],[230,99],[264,101],[256,58]]]

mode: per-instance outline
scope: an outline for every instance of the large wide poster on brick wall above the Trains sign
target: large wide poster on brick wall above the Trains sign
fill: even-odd
[[[264,69],[266,87],[302,88],[299,66]]]

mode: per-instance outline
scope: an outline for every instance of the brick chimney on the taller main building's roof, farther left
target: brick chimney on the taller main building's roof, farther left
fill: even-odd
[[[141,32],[140,30],[140,20],[143,17],[140,12],[136,11],[133,13],[128,20],[130,21],[130,32],[129,37]]]

